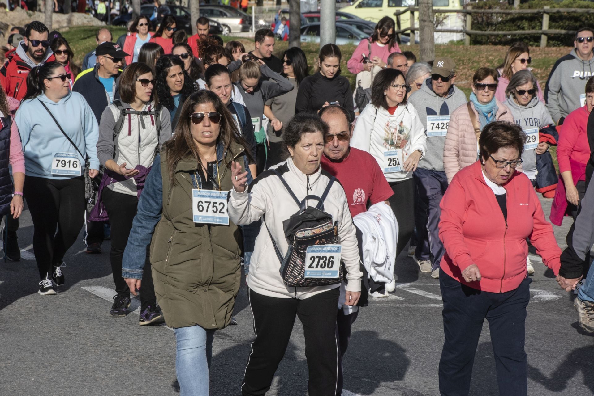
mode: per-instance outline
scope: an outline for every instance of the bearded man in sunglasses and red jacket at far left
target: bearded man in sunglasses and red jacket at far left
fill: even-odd
[[[8,96],[23,100],[27,94],[27,75],[35,66],[56,60],[49,48],[49,30],[43,23],[27,25],[23,41],[7,53],[7,62],[0,69],[0,84]]]

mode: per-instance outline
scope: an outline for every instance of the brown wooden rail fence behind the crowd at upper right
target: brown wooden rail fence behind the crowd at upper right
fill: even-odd
[[[410,27],[405,29],[400,28],[400,15],[410,12]],[[415,32],[419,28],[415,27],[415,12],[419,12],[418,7],[408,7],[402,11],[394,12],[396,16],[396,34],[402,34],[410,31],[410,42],[415,42]],[[473,34],[477,36],[519,36],[521,34],[540,34],[541,47],[546,47],[549,34],[575,34],[575,30],[549,29],[549,14],[561,13],[579,13],[579,14],[594,14],[594,8],[539,8],[539,9],[472,9],[472,5],[462,9],[437,9],[434,10],[436,14],[465,14],[465,28],[463,29],[435,29],[436,33],[464,33],[465,45],[470,45],[470,36]],[[492,31],[492,30],[472,30],[472,14],[542,14],[542,28],[540,30],[508,30],[508,31]]]

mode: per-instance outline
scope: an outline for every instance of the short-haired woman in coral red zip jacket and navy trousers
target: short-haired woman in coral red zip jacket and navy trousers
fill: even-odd
[[[479,161],[454,175],[441,201],[441,395],[468,394],[485,318],[500,394],[527,394],[524,339],[531,280],[526,238],[555,274],[561,250],[532,183],[515,170],[525,140],[516,124],[487,124],[479,138]]]

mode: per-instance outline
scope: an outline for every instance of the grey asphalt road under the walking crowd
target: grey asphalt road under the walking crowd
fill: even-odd
[[[543,200],[548,213],[550,200]],[[555,228],[563,247],[571,219]],[[115,294],[109,241],[103,253],[84,253],[81,238],[68,252],[66,283],[58,295],[39,296],[37,267],[25,212],[18,232],[23,260],[0,263],[0,395],[179,394],[175,336],[169,328],[139,326],[138,314],[111,318]],[[534,252],[532,252],[534,253]],[[536,274],[526,321],[530,395],[594,394],[594,338],[577,326],[573,295],[556,288],[552,272],[533,257]],[[397,289],[374,299],[353,325],[345,356],[343,395],[438,395],[437,366],[443,344],[438,280],[419,273],[403,253],[396,264]],[[134,301],[132,308],[139,305]],[[245,288],[235,315],[239,324],[217,331],[211,395],[239,395],[253,338]],[[485,324],[473,369],[471,395],[498,395]],[[296,321],[289,349],[268,395],[302,396],[307,364]]]

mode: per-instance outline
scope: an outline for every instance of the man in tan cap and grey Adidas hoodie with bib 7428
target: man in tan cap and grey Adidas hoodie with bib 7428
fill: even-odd
[[[454,86],[454,79],[456,63],[451,58],[437,58],[433,61],[431,77],[409,98],[419,113],[427,135],[425,157],[419,161],[413,173],[417,197],[424,204],[419,205],[424,213],[415,213],[419,242],[413,260],[419,264],[422,272],[431,272],[434,278],[439,277],[440,261],[444,254],[438,224],[441,197],[448,186],[443,162],[445,133],[451,112],[466,103],[466,95]],[[429,260],[429,252],[433,260]]]

